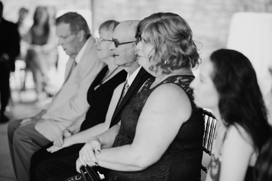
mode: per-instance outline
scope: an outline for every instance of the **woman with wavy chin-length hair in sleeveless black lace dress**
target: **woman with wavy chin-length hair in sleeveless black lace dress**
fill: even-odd
[[[154,77],[126,106],[120,126],[84,145],[77,171],[98,165],[105,180],[198,181],[204,122],[189,87],[199,64],[192,31],[179,15],[156,13],[140,21],[136,37],[138,63]]]

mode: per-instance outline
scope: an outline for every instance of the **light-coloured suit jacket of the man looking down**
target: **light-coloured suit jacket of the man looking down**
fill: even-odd
[[[95,40],[90,39],[80,62],[73,68],[70,58],[66,64],[65,82],[60,91],[53,96],[47,113],[35,124],[35,129],[50,141],[54,141],[57,134],[76,120],[84,120],[89,108],[87,92],[92,81],[105,66],[96,56]]]

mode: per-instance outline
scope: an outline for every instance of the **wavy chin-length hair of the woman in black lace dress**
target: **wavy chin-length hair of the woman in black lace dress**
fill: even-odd
[[[160,68],[163,74],[198,67],[200,59],[191,28],[179,15],[160,12],[144,18],[136,29],[137,43],[142,33],[154,45],[155,53],[149,56],[149,61],[152,59],[154,66]],[[154,66],[150,69],[154,70]]]

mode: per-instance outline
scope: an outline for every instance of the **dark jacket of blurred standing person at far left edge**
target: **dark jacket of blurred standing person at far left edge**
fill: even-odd
[[[15,58],[20,53],[20,35],[17,25],[2,18],[0,21],[0,56],[8,54],[11,71],[15,70]]]

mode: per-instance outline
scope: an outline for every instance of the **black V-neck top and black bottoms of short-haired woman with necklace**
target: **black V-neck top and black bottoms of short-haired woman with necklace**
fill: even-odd
[[[96,76],[96,79],[92,82],[88,90],[87,100],[90,105],[90,108],[86,113],[85,120],[81,124],[80,131],[84,131],[97,124],[105,122],[108,106],[112,99],[113,91],[118,85],[120,85],[122,82],[125,82],[127,72],[125,70],[121,70],[107,82],[103,83],[96,90],[94,90],[94,88],[98,86],[100,81],[104,78],[107,71],[108,67],[106,66]],[[81,148],[84,146],[84,144],[75,144],[70,147],[63,148],[54,153],[47,152],[46,149],[51,147],[52,145],[53,143],[48,144],[47,146],[38,150],[31,157],[30,181],[36,180],[35,179],[36,167],[43,160],[78,154]]]

